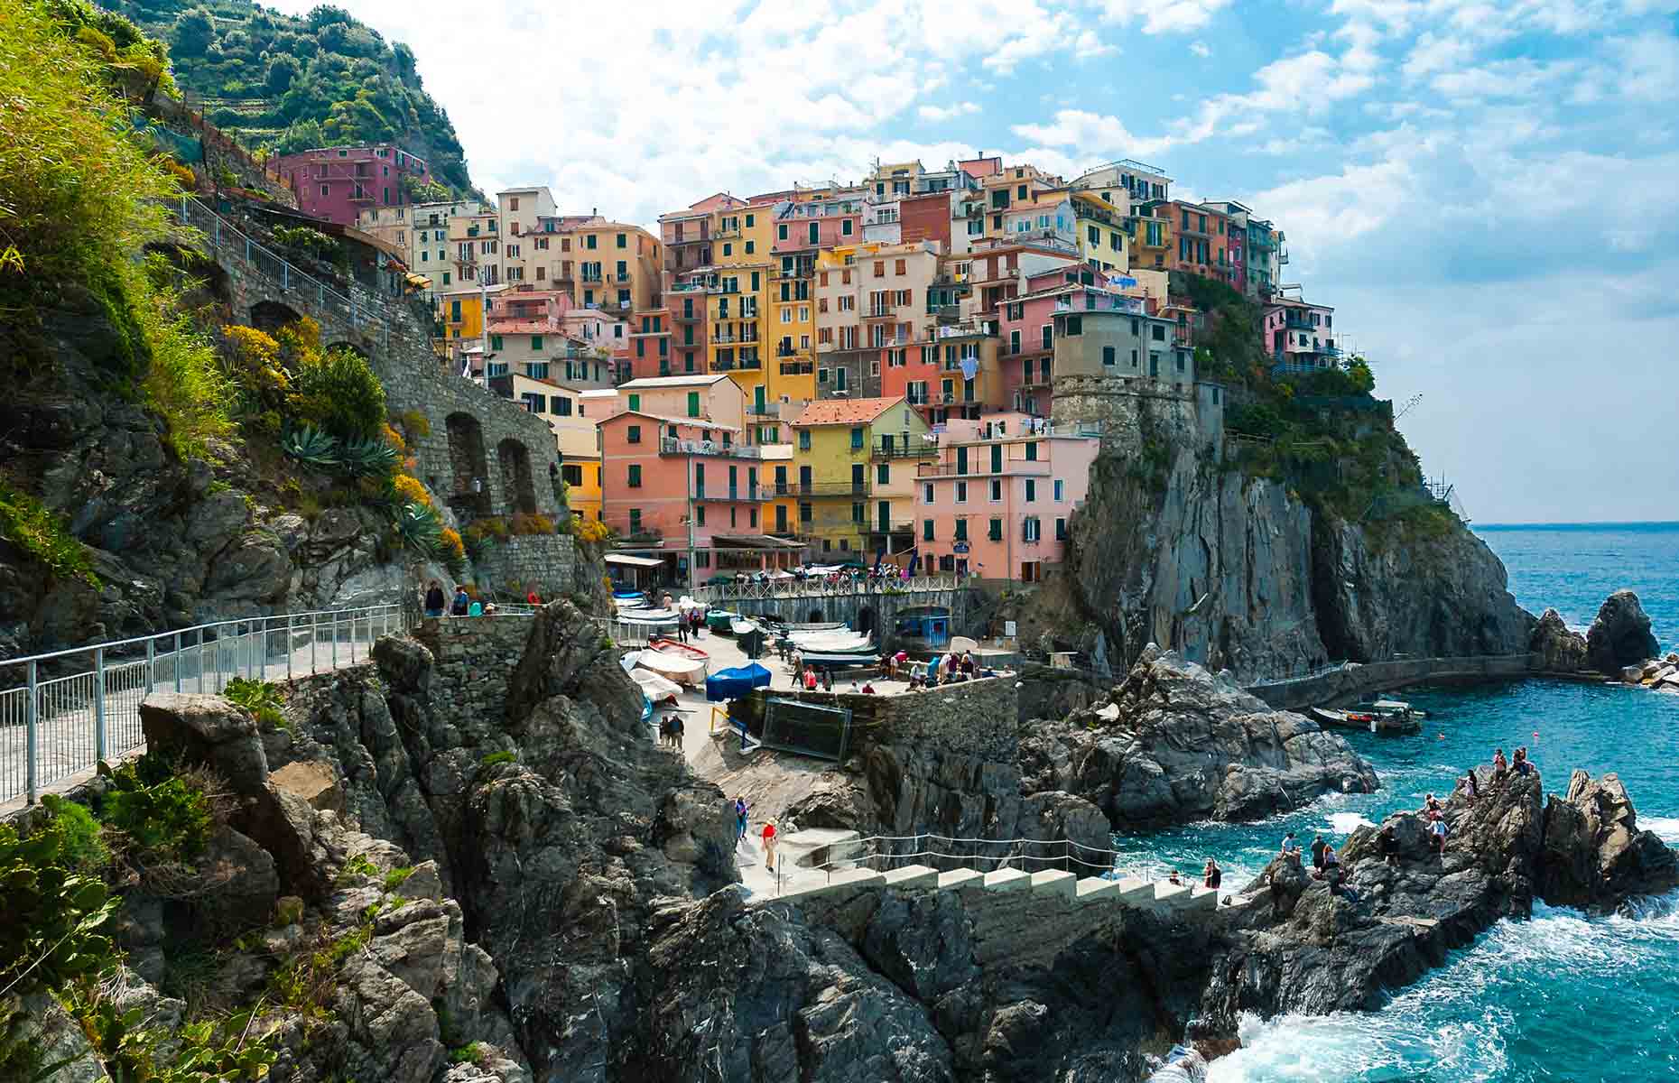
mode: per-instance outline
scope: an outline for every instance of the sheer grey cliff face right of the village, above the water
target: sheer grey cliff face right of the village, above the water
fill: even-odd
[[[1105,453],[1073,522],[1051,638],[1120,668],[1148,643],[1253,680],[1328,662],[1508,655],[1535,618],[1503,564],[1456,519],[1348,522],[1206,447],[1164,475]],[[1051,593],[1046,611],[1061,598]],[[1064,610],[1096,630],[1080,635]],[[1059,633],[1056,626],[1059,620]]]

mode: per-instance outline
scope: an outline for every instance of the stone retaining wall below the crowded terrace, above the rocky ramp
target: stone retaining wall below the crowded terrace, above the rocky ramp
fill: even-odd
[[[952,752],[1002,764],[1014,761],[1019,707],[1012,673],[902,695],[759,688],[745,700],[735,700],[747,725],[762,719],[769,697],[848,709],[855,749],[900,744],[917,752]]]

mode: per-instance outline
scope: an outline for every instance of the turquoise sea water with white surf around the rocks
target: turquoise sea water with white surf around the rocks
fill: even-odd
[[[1612,591],[1637,591],[1662,651],[1679,650],[1679,522],[1478,526],[1509,589],[1535,615],[1585,630]],[[1189,824],[1120,838],[1123,865],[1247,883],[1296,831],[1345,838],[1358,824],[1451,791],[1493,749],[1528,746],[1548,791],[1568,772],[1615,771],[1639,826],[1679,846],[1679,695],[1570,682],[1410,688],[1420,735],[1348,734],[1382,777],[1375,794],[1331,794],[1256,824]],[[1535,908],[1503,920],[1373,1012],[1244,1018],[1242,1048],[1211,1083],[1642,1083],[1679,1081],[1679,892],[1624,913]]]

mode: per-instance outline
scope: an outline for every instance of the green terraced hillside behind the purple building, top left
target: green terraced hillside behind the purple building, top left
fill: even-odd
[[[472,188],[455,126],[425,92],[413,52],[343,8],[294,18],[248,0],[104,7],[168,42],[181,91],[252,149],[393,141],[425,158],[442,185]]]

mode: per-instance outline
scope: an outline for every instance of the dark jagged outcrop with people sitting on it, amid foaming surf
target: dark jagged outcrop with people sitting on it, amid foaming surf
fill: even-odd
[[[1528,917],[1535,898],[1610,908],[1676,883],[1672,851],[1634,833],[1614,776],[1575,772],[1560,804],[1546,804],[1538,772],[1479,777],[1478,798],[1459,786],[1444,806],[1444,851],[1424,813],[1395,813],[1348,838],[1345,885],[1273,860],[1232,915],[1204,997],[1209,1018],[1234,1029],[1244,1011],[1373,1009],[1494,920]]]

